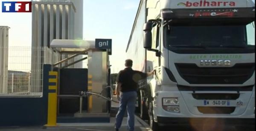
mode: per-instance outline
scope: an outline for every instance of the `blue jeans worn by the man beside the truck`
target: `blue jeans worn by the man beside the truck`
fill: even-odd
[[[128,130],[134,131],[134,113],[135,113],[135,104],[137,99],[137,92],[123,92],[120,95],[120,101],[119,101],[119,110],[116,114],[116,129],[119,129],[122,124],[123,117],[125,115],[125,109],[127,107],[127,113],[128,113]]]

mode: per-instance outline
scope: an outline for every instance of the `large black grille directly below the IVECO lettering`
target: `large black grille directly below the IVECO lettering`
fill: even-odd
[[[189,84],[243,84],[255,71],[255,63],[233,67],[198,67],[196,64],[175,64],[180,76]]]

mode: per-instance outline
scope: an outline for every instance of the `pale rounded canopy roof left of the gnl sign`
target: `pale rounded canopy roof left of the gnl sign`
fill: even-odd
[[[95,41],[54,39],[50,47],[61,54],[74,54],[87,49],[94,49]]]

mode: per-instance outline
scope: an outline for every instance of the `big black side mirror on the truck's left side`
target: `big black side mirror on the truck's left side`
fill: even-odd
[[[143,39],[144,39],[144,48],[145,49],[151,49],[152,48],[152,33],[151,30],[154,26],[153,21],[148,21],[144,24],[144,34],[143,34]]]

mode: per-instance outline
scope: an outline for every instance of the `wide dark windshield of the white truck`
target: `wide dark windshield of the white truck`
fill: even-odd
[[[165,47],[230,47],[244,48],[254,46],[247,40],[247,26],[166,26]],[[253,30],[254,31],[254,28]],[[250,36],[254,32],[248,32]],[[253,35],[254,37],[254,35]],[[251,40],[254,38],[250,38]]]

